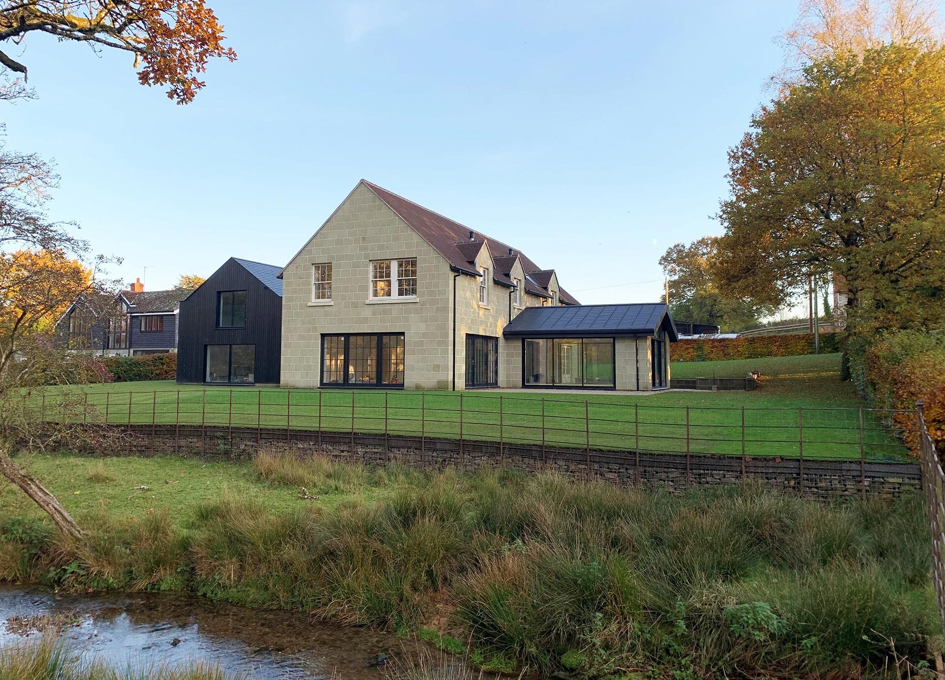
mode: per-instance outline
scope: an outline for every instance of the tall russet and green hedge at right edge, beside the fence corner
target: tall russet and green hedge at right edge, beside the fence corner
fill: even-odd
[[[890,418],[919,452],[916,402],[925,402],[925,424],[939,453],[945,451],[945,331],[898,331],[851,343],[857,390]]]

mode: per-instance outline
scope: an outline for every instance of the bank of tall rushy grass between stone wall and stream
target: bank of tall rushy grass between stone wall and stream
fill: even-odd
[[[120,465],[96,472],[117,479]],[[59,484],[65,467],[45,481]],[[671,497],[551,473],[268,454],[221,470],[255,475],[259,493],[86,508],[84,545],[10,508],[4,489],[0,578],[191,591],[417,631],[489,668],[587,677],[880,675],[893,649],[918,663],[938,639],[919,498],[825,504],[750,487]],[[319,499],[292,507],[281,494],[301,486]]]

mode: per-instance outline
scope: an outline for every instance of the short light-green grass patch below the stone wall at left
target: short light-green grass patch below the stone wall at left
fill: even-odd
[[[268,484],[247,465],[173,456],[90,459],[33,454],[18,460],[42,480],[80,523],[96,519],[103,511],[112,519],[127,519],[166,509],[171,519],[180,524],[191,517],[198,503],[218,501],[227,493],[263,502],[272,512],[296,509],[303,504],[334,507],[340,501],[352,499],[351,494],[335,492],[320,494],[318,501],[302,501],[297,495],[298,487]],[[90,472],[96,470],[104,471],[107,479],[92,481]],[[134,488],[140,485],[149,486],[150,490]],[[372,489],[365,489],[356,496],[369,498],[373,493]],[[42,517],[33,501],[2,479],[0,512]]]

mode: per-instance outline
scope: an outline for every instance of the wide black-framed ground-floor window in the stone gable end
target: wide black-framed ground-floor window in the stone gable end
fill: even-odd
[[[403,387],[404,333],[321,336],[321,384],[325,387]]]

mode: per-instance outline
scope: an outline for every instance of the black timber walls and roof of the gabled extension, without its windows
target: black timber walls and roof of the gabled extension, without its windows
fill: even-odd
[[[279,383],[282,358],[281,267],[230,258],[180,303],[178,382],[204,382],[208,345],[254,345],[254,382]],[[217,294],[246,291],[246,325],[217,328]]]

